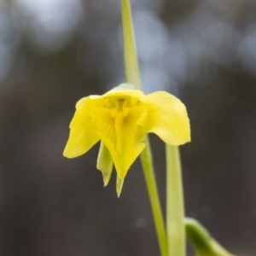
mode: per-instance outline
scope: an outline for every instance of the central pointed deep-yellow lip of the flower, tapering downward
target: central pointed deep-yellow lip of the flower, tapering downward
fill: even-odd
[[[147,109],[143,104],[129,109],[129,113],[119,120],[117,129],[111,109],[105,105],[104,98],[92,100],[90,115],[96,127],[96,135],[108,148],[118,176],[122,179],[145,147],[142,142]]]

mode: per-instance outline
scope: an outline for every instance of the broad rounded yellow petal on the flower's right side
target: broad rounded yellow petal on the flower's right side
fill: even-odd
[[[148,109],[147,132],[154,132],[165,143],[181,145],[190,141],[187,110],[177,97],[165,91],[145,96]]]

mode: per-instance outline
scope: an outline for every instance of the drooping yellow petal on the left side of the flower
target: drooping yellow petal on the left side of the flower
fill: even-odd
[[[76,105],[76,112],[70,124],[70,134],[64,149],[67,158],[77,157],[86,153],[99,141],[88,112],[90,98],[81,99]]]

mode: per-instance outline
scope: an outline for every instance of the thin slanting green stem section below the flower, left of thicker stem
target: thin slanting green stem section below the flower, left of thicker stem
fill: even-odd
[[[143,165],[144,177],[147,183],[150,204],[154,216],[154,225],[158,236],[160,252],[162,256],[167,256],[168,245],[166,240],[166,230],[163,221],[163,214],[161,212],[157,185],[154,177],[153,160],[148,137],[146,138],[146,148],[143,150],[143,153],[141,154],[140,157]]]

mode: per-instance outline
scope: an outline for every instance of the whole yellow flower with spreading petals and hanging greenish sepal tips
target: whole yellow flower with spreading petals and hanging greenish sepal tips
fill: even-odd
[[[79,100],[64,150],[64,156],[73,158],[102,141],[97,168],[107,185],[114,164],[118,195],[128,169],[145,147],[145,134],[154,132],[172,145],[190,141],[189,119],[182,102],[165,91],[144,95],[132,86],[120,84],[102,96]]]

